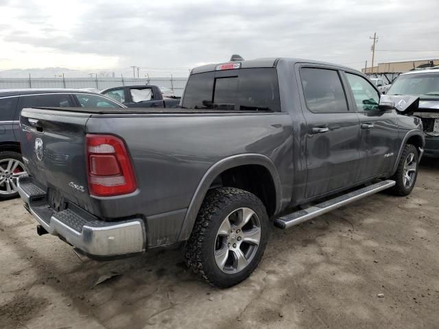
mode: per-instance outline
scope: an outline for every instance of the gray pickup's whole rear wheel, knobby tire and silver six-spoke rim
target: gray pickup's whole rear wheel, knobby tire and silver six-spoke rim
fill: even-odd
[[[231,287],[256,269],[270,225],[261,200],[238,188],[209,191],[187,241],[187,265],[217,287]]]

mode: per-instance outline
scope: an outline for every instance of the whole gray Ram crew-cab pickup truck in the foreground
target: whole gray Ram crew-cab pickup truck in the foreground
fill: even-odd
[[[195,273],[230,287],[272,226],[412,191],[418,99],[382,97],[353,69],[269,58],[193,69],[180,108],[25,109],[19,193],[38,234],[82,254],[184,244]]]

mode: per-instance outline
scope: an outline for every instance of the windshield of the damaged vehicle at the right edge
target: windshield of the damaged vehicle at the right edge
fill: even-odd
[[[400,75],[387,95],[414,95],[420,99],[439,99],[439,72]]]

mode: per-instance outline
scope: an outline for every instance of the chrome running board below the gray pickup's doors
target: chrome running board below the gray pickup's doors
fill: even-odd
[[[350,204],[351,202],[367,197],[368,195],[383,191],[386,188],[394,186],[395,184],[396,182],[394,180],[384,180],[383,182],[379,182],[377,184],[359,188],[356,191],[346,193],[340,197],[335,197],[320,204],[316,204],[316,206],[312,206],[305,210],[299,210],[283,217],[279,217],[278,219],[274,220],[274,226],[282,229],[291,228],[292,226],[323,215],[326,212],[330,212],[331,210],[345,206],[346,204]]]

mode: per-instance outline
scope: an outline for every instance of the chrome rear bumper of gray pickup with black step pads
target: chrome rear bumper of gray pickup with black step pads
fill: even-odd
[[[19,179],[18,190],[26,208],[47,232],[60,236],[88,256],[113,257],[145,251],[142,219],[102,221],[71,203],[56,212],[50,208],[45,191],[31,177]]]

